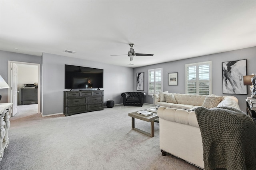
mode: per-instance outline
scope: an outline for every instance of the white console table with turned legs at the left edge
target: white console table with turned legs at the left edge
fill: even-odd
[[[4,156],[4,149],[8,147],[8,130],[10,128],[10,107],[13,103],[0,103],[0,160]]]

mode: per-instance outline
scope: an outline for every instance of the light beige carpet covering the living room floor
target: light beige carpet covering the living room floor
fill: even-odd
[[[145,109],[116,105],[65,117],[42,117],[37,105],[19,106],[10,119],[10,143],[1,170],[198,170],[174,156],[162,156],[159,124],[150,138],[131,130],[128,113]],[[150,123],[135,120],[150,132]],[[170,143],[171,144],[171,143]],[[189,142],[188,142],[189,144]]]

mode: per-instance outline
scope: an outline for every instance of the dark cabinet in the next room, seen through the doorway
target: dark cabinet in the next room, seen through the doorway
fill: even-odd
[[[38,103],[37,88],[20,89],[21,105],[31,105]]]

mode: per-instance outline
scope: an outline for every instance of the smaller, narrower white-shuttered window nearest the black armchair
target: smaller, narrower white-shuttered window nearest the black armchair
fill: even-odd
[[[159,93],[163,89],[163,68],[148,70],[148,94]]]

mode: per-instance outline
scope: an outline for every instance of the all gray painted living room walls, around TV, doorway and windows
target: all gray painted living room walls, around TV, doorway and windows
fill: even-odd
[[[155,56],[157,57],[157,56]],[[212,93],[222,93],[222,62],[247,59],[247,75],[256,73],[255,67],[256,47],[217,53],[183,59],[135,69],[120,67],[110,64],[98,63],[72,57],[43,53],[42,57],[0,51],[0,75],[6,80],[8,60],[28,63],[40,63],[42,69],[41,101],[43,115],[63,112],[63,91],[64,89],[64,65],[80,65],[104,69],[104,105],[108,99],[114,100],[115,104],[122,103],[121,93],[124,91],[136,91],[136,73],[144,72],[144,92],[148,93],[148,69],[163,67],[163,90],[170,93],[185,93],[185,64],[201,61],[212,61]],[[178,72],[178,86],[168,85],[168,73]],[[246,97],[250,96],[249,86],[247,95],[234,95],[238,98],[240,108],[246,112]],[[2,89],[1,103],[8,102],[8,90]],[[145,103],[153,104],[151,96],[146,95]]]

